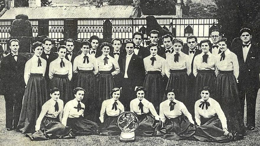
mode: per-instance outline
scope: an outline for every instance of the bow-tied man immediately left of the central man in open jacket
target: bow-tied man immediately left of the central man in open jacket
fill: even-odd
[[[126,50],[121,49],[122,40],[120,38],[114,38],[111,41],[111,44],[113,46],[113,49],[111,49],[111,51],[109,52],[109,55],[111,57],[115,58],[119,64],[119,62],[122,61],[122,58],[126,56]],[[112,70],[114,70],[114,68]],[[115,81],[116,87],[121,87],[122,78],[121,78],[120,74],[114,76],[114,81]]]

